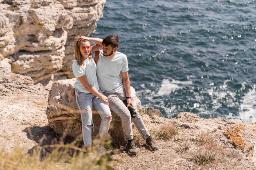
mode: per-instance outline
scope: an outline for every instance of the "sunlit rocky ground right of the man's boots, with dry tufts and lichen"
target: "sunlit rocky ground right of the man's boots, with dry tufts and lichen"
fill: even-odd
[[[111,164],[116,169],[256,169],[255,123],[239,119],[204,119],[189,112],[181,112],[173,119],[150,115],[142,115],[142,118],[159,149],[152,152],[144,147],[144,140],[139,140],[136,159],[127,157],[126,152],[112,156],[113,160],[121,160],[121,163]],[[176,130],[178,133],[174,134]],[[137,141],[139,135],[134,131]]]

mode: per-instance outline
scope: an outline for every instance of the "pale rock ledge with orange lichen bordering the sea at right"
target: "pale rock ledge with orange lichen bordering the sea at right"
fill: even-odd
[[[256,143],[255,123],[238,119],[203,119],[189,112],[179,113],[176,120],[179,127],[190,133],[194,130],[222,131],[220,139],[242,152],[251,151]]]

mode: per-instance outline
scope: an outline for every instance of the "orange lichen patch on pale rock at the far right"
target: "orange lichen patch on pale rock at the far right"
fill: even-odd
[[[245,125],[238,124],[231,126],[223,133],[228,141],[237,149],[247,150],[249,152],[254,148],[254,144],[248,139],[245,139],[242,130],[245,130]]]

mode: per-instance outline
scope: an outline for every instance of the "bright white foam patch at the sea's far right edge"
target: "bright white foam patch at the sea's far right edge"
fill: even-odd
[[[250,89],[243,97],[239,107],[239,117],[247,121],[256,121],[256,91]]]

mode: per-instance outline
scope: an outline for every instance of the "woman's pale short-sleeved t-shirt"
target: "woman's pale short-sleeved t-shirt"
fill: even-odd
[[[92,57],[94,57],[94,55],[95,53],[92,53]],[[83,75],[86,76],[87,81],[91,86],[96,88],[97,91],[99,90],[99,84],[98,84],[97,75],[96,75],[97,67],[92,57],[90,58],[90,61],[88,58],[84,60],[83,63],[85,64],[85,67],[79,66],[77,64],[76,59],[72,64],[72,70],[73,70],[74,76],[76,77],[74,88],[77,88],[79,91],[82,91],[83,93],[90,93],[84,88],[83,84],[81,84],[81,82],[78,79],[78,77],[81,77]]]

